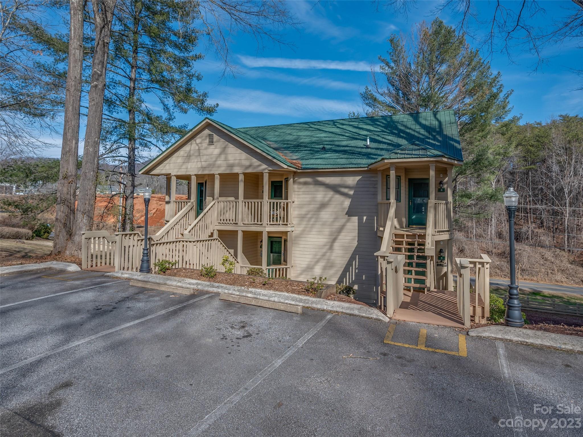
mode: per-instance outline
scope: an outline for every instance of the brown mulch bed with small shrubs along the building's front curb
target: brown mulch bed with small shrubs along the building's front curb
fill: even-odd
[[[315,297],[310,292],[305,291],[306,282],[292,281],[290,279],[266,279],[261,276],[250,276],[247,274],[223,273],[217,272],[212,279],[201,276],[200,270],[195,269],[171,269],[166,273],[161,273],[163,276],[174,276],[178,278],[196,279],[199,281],[213,282],[219,284],[226,284],[228,286],[240,286],[248,288],[259,288],[261,290],[282,291],[291,294],[300,294],[304,296]],[[328,296],[330,301],[347,302],[349,304],[366,305],[364,302],[359,302],[356,299],[345,295],[331,295]]]

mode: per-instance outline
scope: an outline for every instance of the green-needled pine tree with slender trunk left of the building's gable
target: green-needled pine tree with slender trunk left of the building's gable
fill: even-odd
[[[118,3],[107,84],[103,139],[106,156],[124,161],[124,231],[134,226],[136,159],[185,132],[174,124],[175,112],[208,115],[217,105],[194,82],[202,76],[194,52],[199,31],[192,2],[127,0]],[[152,103],[155,102],[155,103]],[[157,113],[152,106],[160,107]],[[120,151],[127,150],[127,156]]]

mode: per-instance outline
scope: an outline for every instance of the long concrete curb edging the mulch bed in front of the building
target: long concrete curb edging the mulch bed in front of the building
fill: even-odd
[[[298,294],[285,293],[280,291],[259,290],[258,288],[247,288],[238,286],[228,286],[213,282],[198,281],[196,279],[175,278],[169,276],[159,276],[152,273],[138,272],[112,272],[106,276],[135,281],[149,282],[161,286],[171,286],[179,288],[196,288],[196,290],[209,291],[214,293],[226,293],[236,296],[245,296],[265,301],[280,302],[282,304],[299,305],[304,308],[321,309],[336,313],[360,316],[367,319],[389,322],[389,318],[376,308],[364,305],[347,304],[346,302],[328,301],[314,297],[302,296]]]

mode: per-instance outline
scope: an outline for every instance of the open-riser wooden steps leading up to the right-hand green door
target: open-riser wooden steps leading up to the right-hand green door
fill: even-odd
[[[423,231],[394,231],[390,253],[405,255],[403,290],[427,292],[430,288],[427,277],[430,260],[425,252],[426,234]]]

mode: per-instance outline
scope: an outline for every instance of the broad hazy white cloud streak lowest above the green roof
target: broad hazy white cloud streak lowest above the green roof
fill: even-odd
[[[360,102],[329,100],[309,96],[284,96],[260,90],[225,87],[215,99],[219,112],[229,109],[255,114],[288,115],[290,117],[346,117],[358,110]]]

